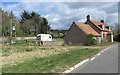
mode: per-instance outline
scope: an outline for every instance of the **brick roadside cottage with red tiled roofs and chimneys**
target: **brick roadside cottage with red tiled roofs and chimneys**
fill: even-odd
[[[113,42],[112,28],[104,23],[91,20],[90,15],[86,16],[87,20],[84,24],[73,22],[69,30],[65,33],[64,43],[66,44],[86,44],[88,35],[93,35],[98,43],[108,41]]]

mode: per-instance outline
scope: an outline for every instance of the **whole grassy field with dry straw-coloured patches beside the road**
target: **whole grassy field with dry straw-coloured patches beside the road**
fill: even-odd
[[[3,73],[56,73],[63,72],[80,61],[98,53],[101,46],[62,46],[61,39],[55,45],[2,45]]]

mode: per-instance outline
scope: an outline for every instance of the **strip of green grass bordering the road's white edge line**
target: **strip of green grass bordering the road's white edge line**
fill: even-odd
[[[43,58],[32,58],[17,65],[4,65],[3,73],[56,73],[63,72],[80,61],[89,58],[100,50],[74,49],[62,54]]]

